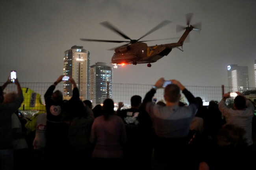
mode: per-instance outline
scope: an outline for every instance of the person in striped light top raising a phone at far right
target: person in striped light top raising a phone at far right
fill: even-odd
[[[226,99],[230,98],[230,92],[223,95],[219,102],[219,110],[226,118],[227,123],[236,124],[245,130],[245,139],[248,146],[253,144],[252,140],[252,118],[254,117],[254,106],[242,93],[236,92],[233,108],[225,105]]]

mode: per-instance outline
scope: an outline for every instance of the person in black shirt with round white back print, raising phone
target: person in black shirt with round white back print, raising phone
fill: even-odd
[[[45,163],[46,168],[64,168],[65,165],[61,162],[67,160],[69,153],[68,128],[69,126],[63,121],[63,94],[59,90],[55,90],[57,84],[63,79],[64,75],[52,84],[45,92],[45,107],[46,107],[46,144],[45,144]],[[76,82],[71,77],[68,80],[73,85],[72,98],[79,99],[79,90]]]

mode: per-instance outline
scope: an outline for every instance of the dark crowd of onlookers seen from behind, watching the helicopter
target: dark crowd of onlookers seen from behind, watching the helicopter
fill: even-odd
[[[37,115],[28,137],[18,108],[23,94],[3,94],[0,87],[0,169],[100,170],[249,170],[255,169],[254,104],[236,92],[234,106],[211,101],[203,106],[179,81],[164,88],[164,101],[154,102],[160,78],[142,98],[130,98],[131,108],[114,110],[114,101],[92,106],[80,99],[74,79],[72,97],[55,90],[63,75],[45,92],[46,112]],[[54,91],[55,90],[55,91]],[[188,104],[180,102],[181,92]],[[30,132],[31,133],[31,132]]]

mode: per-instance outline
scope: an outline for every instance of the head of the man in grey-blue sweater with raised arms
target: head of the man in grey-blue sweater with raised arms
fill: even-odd
[[[180,100],[180,88],[176,84],[169,84],[165,87],[165,101],[177,102]]]

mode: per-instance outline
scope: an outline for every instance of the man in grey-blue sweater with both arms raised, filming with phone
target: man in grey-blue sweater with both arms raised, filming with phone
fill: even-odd
[[[154,104],[152,97],[157,89],[163,88],[165,82],[169,82],[164,90],[166,106]],[[179,106],[180,91],[187,98],[188,106]],[[184,156],[187,157],[189,126],[198,108],[195,97],[179,81],[165,81],[165,79],[160,78],[146,94],[143,104],[153,121],[156,134],[154,144],[155,168],[184,169],[184,166],[187,165],[183,158]]]

